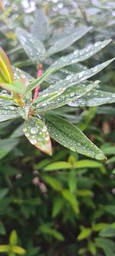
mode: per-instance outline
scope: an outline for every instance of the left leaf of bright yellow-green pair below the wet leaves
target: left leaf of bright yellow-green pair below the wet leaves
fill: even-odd
[[[71,164],[67,161],[56,161],[44,168],[44,171],[57,171],[63,169],[71,169]]]

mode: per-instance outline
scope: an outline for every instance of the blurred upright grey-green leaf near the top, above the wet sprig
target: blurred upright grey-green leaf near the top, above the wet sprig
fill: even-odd
[[[38,8],[36,12],[35,22],[31,28],[32,34],[41,41],[44,41],[49,34],[48,17]]]

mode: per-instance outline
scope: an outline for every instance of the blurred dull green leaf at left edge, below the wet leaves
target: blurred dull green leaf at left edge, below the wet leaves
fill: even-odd
[[[18,138],[4,138],[0,140],[0,159],[5,158],[12,148],[18,145]]]

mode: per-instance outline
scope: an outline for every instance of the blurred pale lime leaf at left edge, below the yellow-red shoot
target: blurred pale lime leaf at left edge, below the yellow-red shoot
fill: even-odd
[[[5,88],[8,91],[18,92],[23,94],[25,91],[25,87],[21,80],[12,81],[11,84],[0,82],[0,87]]]

